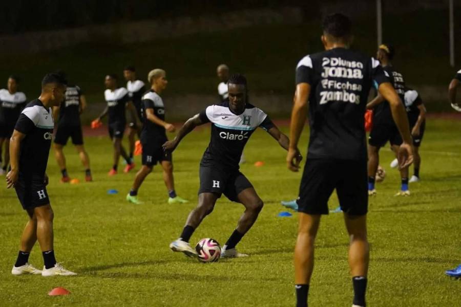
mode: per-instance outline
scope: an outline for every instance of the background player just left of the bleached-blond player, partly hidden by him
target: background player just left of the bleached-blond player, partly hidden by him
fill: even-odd
[[[124,68],[123,77],[125,80],[127,80],[127,90],[130,93],[131,101],[136,108],[138,122],[142,124],[141,98],[145,92],[144,82],[141,80],[136,80],[136,69],[131,65]],[[130,142],[130,160],[133,162],[133,152],[135,151],[135,135],[138,135],[138,138],[140,138],[142,127],[137,126],[134,122],[130,122],[128,124],[128,129],[128,141]],[[140,142],[136,141],[136,144],[140,144]]]

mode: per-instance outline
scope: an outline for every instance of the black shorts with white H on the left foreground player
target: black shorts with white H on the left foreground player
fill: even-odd
[[[17,198],[23,209],[45,206],[50,203],[45,178],[41,176],[20,176],[14,185]]]

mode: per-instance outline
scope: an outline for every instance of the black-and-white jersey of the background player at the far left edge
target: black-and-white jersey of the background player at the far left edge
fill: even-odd
[[[0,124],[14,125],[25,105],[23,92],[10,94],[8,90],[0,90]]]

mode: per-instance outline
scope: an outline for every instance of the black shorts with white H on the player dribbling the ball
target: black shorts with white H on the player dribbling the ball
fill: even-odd
[[[200,165],[199,194],[215,193],[219,195],[218,197],[224,194],[229,200],[239,203],[237,195],[252,187],[253,185],[238,169],[225,171],[213,166]]]

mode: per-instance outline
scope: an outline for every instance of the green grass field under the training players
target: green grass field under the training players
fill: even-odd
[[[423,181],[411,184],[412,195],[395,198],[397,171],[388,167],[391,152],[383,149],[386,180],[369,205],[371,262],[367,292],[370,306],[459,305],[461,280],[444,271],[461,263],[460,121],[429,120],[422,147]],[[283,127],[287,132],[287,127]],[[196,205],[198,163],[209,129],[187,136],[174,154],[176,190],[191,200],[170,206],[158,167],[140,189],[143,205],[124,201],[134,173],[108,178],[112,151],[107,137],[86,139],[93,183],[59,183],[50,155],[48,192],[55,212],[58,261],[79,273],[75,277],[12,276],[19,236],[27,218],[12,190],[0,189],[0,306],[293,306],[293,250],[297,218],[278,217],[281,200],[297,195],[299,173],[289,172],[285,151],[260,130],[245,149],[242,171],[253,182],[265,207],[238,248],[249,258],[200,264],[168,245],[176,239],[188,212]],[[304,134],[302,151],[305,151]],[[66,148],[72,178],[83,170],[71,146]],[[137,157],[139,164],[139,157]],[[253,166],[264,161],[263,167]],[[116,195],[107,194],[117,189]],[[338,205],[332,196],[330,208]],[[191,242],[213,237],[224,244],[242,213],[240,204],[221,199]],[[348,238],[342,214],[322,220],[310,306],[350,306],[352,286],[347,267]],[[30,262],[43,265],[39,247]],[[49,297],[54,287],[71,295]],[[211,299],[211,301],[209,301]]]

